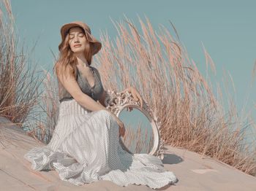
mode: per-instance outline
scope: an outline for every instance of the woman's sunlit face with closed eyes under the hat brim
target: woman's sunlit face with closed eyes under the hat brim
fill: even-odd
[[[69,30],[69,47],[72,52],[85,52],[89,50],[89,41],[86,39],[86,35],[83,29],[80,27],[72,27]]]

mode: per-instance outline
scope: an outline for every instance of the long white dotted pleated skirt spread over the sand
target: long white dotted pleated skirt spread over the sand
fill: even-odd
[[[34,147],[24,157],[32,169],[55,170],[61,180],[75,185],[108,180],[155,189],[177,182],[158,157],[129,154],[119,139],[118,124],[108,111],[91,112],[72,99],[61,102],[49,144]]]

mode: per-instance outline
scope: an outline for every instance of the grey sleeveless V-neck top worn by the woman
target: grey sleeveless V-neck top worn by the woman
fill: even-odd
[[[78,82],[78,85],[83,93],[86,93],[91,98],[93,98],[94,101],[97,101],[101,98],[104,88],[102,86],[102,82],[99,76],[99,71],[93,66],[89,66],[89,67],[94,76],[94,87],[90,87],[89,82],[85,77],[82,76],[78,68],[77,68],[77,74],[76,74],[76,81]],[[72,95],[70,95],[70,93],[65,89],[65,87],[61,84],[61,82],[59,82],[59,79],[58,79],[58,86],[59,86],[60,102],[73,99]]]

